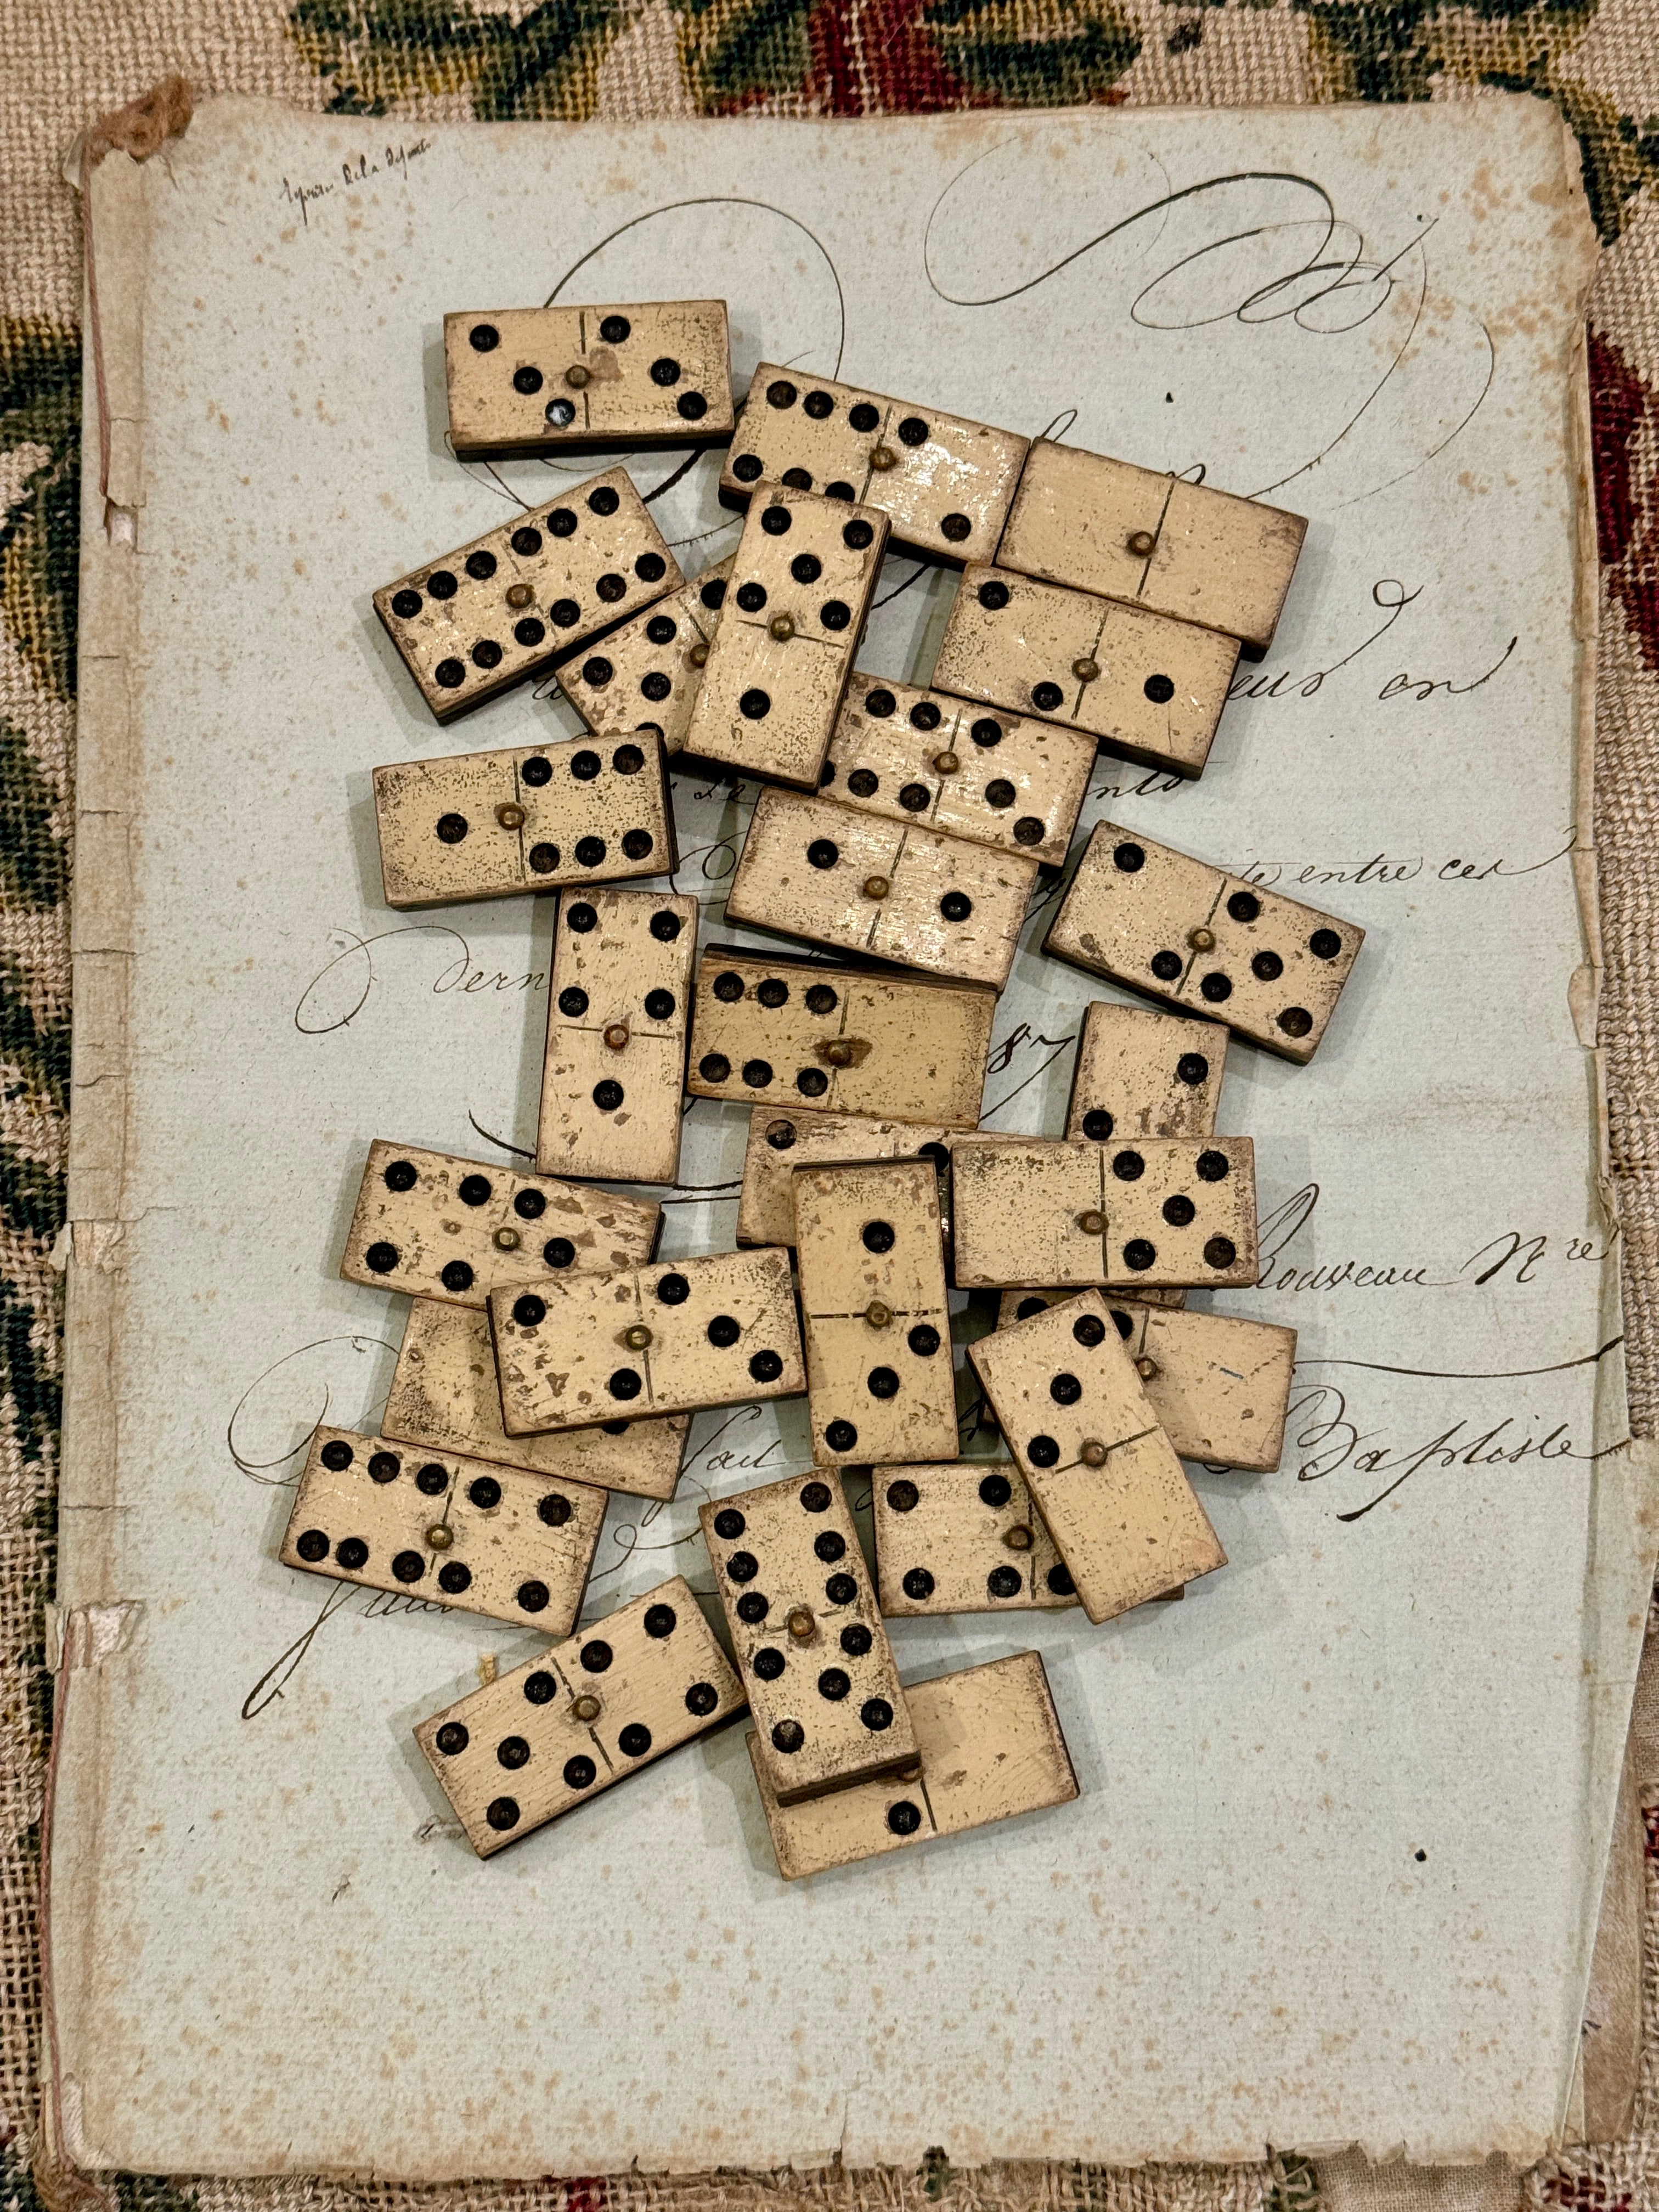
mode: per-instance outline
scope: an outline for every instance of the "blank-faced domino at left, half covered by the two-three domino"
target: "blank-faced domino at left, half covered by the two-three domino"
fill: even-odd
[[[471,1305],[414,1298],[392,1376],[385,1436],[436,1453],[465,1453],[557,1482],[588,1482],[633,1498],[672,1498],[690,1413],[608,1420],[599,1429],[509,1436],[489,1314]]]

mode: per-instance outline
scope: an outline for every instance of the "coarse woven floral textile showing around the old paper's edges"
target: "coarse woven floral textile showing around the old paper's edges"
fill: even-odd
[[[71,137],[170,71],[197,95],[409,117],[863,115],[1077,102],[1551,100],[1584,148],[1601,666],[1597,823],[1630,1398],[1659,1416],[1659,0],[0,0],[0,2212],[35,2212],[33,1944],[51,1730],[69,1110],[80,429]],[[734,126],[737,128],[737,126]],[[1579,825],[1588,838],[1590,825]],[[124,2177],[119,2212],[1577,2212],[1659,2181],[1659,1790],[1644,2079],[1624,2143],[1526,2177],[1318,2168],[637,2174],[469,2190]],[[1564,1807],[1564,1818],[1568,1809]],[[434,2126],[442,2117],[434,2115]]]

